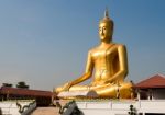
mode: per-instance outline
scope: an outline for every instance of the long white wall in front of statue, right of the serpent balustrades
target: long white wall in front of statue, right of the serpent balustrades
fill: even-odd
[[[128,115],[132,104],[138,113],[164,113],[165,100],[119,100],[119,101],[95,101],[76,102],[85,115]]]

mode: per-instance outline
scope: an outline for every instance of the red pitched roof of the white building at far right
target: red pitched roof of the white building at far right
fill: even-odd
[[[165,76],[155,74],[148,79],[136,83],[134,87],[138,89],[165,88]]]

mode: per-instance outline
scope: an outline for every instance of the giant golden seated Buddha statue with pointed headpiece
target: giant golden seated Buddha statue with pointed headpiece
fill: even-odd
[[[112,42],[113,21],[108,11],[99,23],[100,45],[88,51],[85,73],[78,79],[56,88],[57,94],[64,91],[96,91],[99,97],[131,99],[132,83],[124,82],[128,74],[127,48]],[[94,73],[95,72],[95,73]],[[88,85],[78,83],[92,77]]]

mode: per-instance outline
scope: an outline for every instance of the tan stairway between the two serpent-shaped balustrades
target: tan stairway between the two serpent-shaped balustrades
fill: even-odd
[[[57,107],[37,107],[31,115],[59,115]]]

